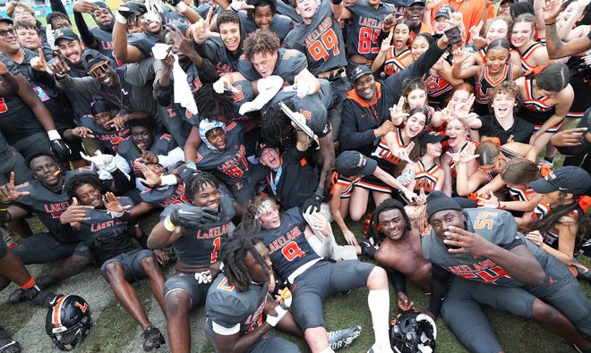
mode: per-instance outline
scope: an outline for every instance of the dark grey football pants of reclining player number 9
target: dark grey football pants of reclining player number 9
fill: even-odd
[[[290,288],[295,323],[302,331],[324,326],[322,301],[335,293],[366,286],[373,267],[356,260],[319,261],[312,265],[295,278]]]

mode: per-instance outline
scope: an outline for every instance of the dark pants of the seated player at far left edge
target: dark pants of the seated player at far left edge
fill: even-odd
[[[90,259],[90,249],[86,245],[81,242],[61,243],[48,231],[25,238],[13,248],[13,253],[21,258],[24,265],[47,264],[73,255]]]

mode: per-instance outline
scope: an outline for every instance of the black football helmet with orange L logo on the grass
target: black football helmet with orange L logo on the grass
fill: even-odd
[[[89,335],[90,326],[89,303],[73,295],[58,298],[45,320],[45,331],[56,347],[65,351],[76,348]]]

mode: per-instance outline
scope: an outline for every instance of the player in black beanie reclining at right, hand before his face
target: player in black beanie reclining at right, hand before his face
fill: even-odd
[[[463,210],[443,192],[433,191],[426,216],[432,229],[421,245],[433,276],[425,314],[434,320],[441,310],[467,349],[502,350],[477,303],[531,317],[578,349],[591,349],[584,337],[591,333],[587,295],[566,265],[517,231],[510,213]]]

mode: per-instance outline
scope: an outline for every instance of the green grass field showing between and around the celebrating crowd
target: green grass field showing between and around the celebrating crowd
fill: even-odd
[[[85,14],[87,23],[92,26],[90,15]],[[45,19],[39,19],[45,23]],[[72,21],[73,22],[73,21]],[[74,30],[75,25],[74,25]],[[557,159],[557,163],[560,161]],[[156,214],[141,222],[145,231],[150,231],[151,226],[158,221]],[[41,231],[42,226],[36,218],[30,219],[30,223],[36,231]],[[362,237],[362,224],[349,222],[349,228],[355,232],[358,239]],[[337,231],[336,237],[339,243],[343,244],[342,235]],[[579,258],[585,265],[591,265],[591,261],[585,256]],[[364,260],[365,261],[365,260]],[[49,265],[30,265],[30,272],[34,276],[47,273],[61,263]],[[167,275],[174,272],[172,266],[166,269]],[[587,282],[580,282],[587,293],[591,294],[591,287]],[[150,285],[147,281],[135,284],[143,306],[150,317],[150,320],[166,335],[166,321],[160,311],[156,300],[151,296]],[[53,345],[44,330],[46,309],[31,307],[28,303],[11,305],[6,303],[6,298],[15,289],[11,284],[7,289],[0,292],[0,325],[13,334],[16,340],[21,342],[24,352],[59,352]],[[93,313],[94,326],[90,337],[76,349],[79,352],[141,352],[141,329],[133,321],[131,315],[122,307],[107,282],[100,276],[99,270],[91,268],[67,282],[56,286],[52,290],[59,293],[79,294],[86,298]],[[393,291],[393,289],[392,289]],[[390,318],[398,314],[398,307],[395,306],[395,293],[390,292]],[[417,307],[426,307],[429,301],[427,295],[418,290],[415,285],[408,283],[408,297],[415,301]],[[531,320],[522,319],[510,313],[500,312],[491,308],[484,308],[488,315],[492,328],[501,341],[501,345],[507,352],[572,352],[572,349],[561,338],[545,331]],[[358,289],[347,296],[335,296],[328,299],[324,304],[324,317],[328,330],[337,330],[353,324],[360,324],[363,327],[361,336],[353,346],[347,349],[348,352],[365,352],[373,344],[372,321],[367,309],[367,290]],[[192,315],[192,351],[213,352],[211,345],[205,340],[202,333],[204,321],[203,310],[197,309]],[[466,352],[453,336],[449,329],[442,323],[437,322],[438,352]],[[309,351],[304,340],[288,337],[280,332],[272,332],[278,336],[286,337],[295,341],[302,351]],[[158,352],[167,352],[166,345]]]

